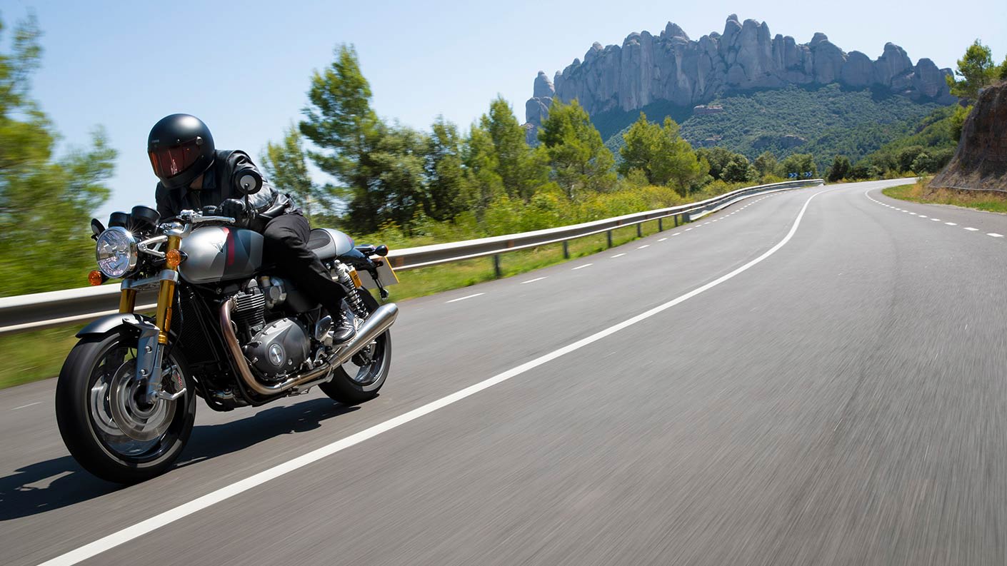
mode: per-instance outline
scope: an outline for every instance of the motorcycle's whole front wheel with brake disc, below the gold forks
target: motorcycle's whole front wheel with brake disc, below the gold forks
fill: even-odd
[[[195,391],[181,352],[166,353],[165,389],[186,391],[149,407],[139,397],[136,337],[114,330],[85,336],[70,350],[56,383],[56,423],[85,469],[136,483],[162,473],[181,453],[195,420]]]

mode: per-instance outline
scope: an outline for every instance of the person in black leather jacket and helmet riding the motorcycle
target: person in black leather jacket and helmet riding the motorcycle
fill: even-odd
[[[201,120],[172,114],[150,130],[147,154],[160,179],[155,198],[162,219],[173,218],[183,209],[219,205],[221,215],[262,234],[266,258],[332,315],[336,322],[334,342],[343,343],[353,337],[355,329],[342,310],[345,291],[308,249],[311,227],[290,195],[280,193],[264,180],[262,189],[249,195],[246,208],[244,194],[233,179],[240,171],[258,172],[247,153],[215,149],[209,128]]]

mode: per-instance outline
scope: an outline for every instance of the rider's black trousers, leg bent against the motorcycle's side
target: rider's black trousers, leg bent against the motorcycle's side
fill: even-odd
[[[283,275],[309,297],[321,303],[336,318],[346,295],[342,285],[332,281],[318,257],[308,250],[311,226],[297,213],[281,215],[263,230],[266,260],[275,263]]]

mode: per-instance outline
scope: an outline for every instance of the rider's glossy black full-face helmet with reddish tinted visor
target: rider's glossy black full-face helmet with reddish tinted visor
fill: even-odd
[[[195,116],[172,114],[150,129],[147,154],[161,184],[178,188],[195,180],[213,163],[213,136]]]

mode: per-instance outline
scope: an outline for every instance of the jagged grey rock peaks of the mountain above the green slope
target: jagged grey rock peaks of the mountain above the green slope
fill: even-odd
[[[539,72],[525,106],[526,127],[531,138],[554,96],[565,102],[577,99],[592,117],[661,102],[693,108],[725,93],[833,83],[952,104],[956,99],[945,82],[950,74],[928,58],[913,64],[893,43],[886,43],[881,55],[871,60],[860,51],[847,53],[824,33],[816,33],[809,43],[798,43],[788,35],[772,36],[765,22],[740,22],[732,14],[723,34],[712,32],[693,40],[669,22],[660,35],[630,33],[621,46],[594,43],[583,61],[574,59],[553,81]]]

